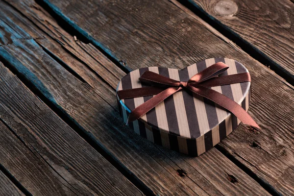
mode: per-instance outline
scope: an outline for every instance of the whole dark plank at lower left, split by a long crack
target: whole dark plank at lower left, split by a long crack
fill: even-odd
[[[22,41],[16,40],[14,44],[20,46]],[[3,55],[3,52],[2,46],[0,53]],[[11,57],[10,63],[28,73],[20,62],[7,53],[5,55],[5,58]],[[35,79],[33,73],[29,77]],[[43,86],[42,90],[44,92],[46,88]],[[26,149],[21,147],[20,141],[17,143],[16,138],[9,138],[7,133],[0,137],[3,139],[0,144],[4,146],[0,151],[3,153],[1,165],[30,193],[62,196],[142,194],[2,64],[0,92],[1,121],[26,146]],[[54,101],[53,98],[51,100]],[[1,134],[5,134],[4,131],[7,132],[7,128]]]

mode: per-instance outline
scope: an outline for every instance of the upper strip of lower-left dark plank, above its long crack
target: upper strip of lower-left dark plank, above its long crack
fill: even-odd
[[[33,78],[33,74],[30,76]],[[4,84],[3,82],[1,87],[4,88]],[[28,98],[21,97],[22,93],[13,95],[13,93],[18,92],[16,89],[21,86],[20,84],[17,85],[17,83],[16,86],[13,86],[13,84],[15,83],[9,84],[10,89],[6,87],[6,89],[1,90],[1,92],[4,92],[2,93],[1,102],[2,104],[7,104],[3,106],[1,118],[6,117],[6,121],[11,121],[7,122],[7,124],[13,129],[17,129],[20,137],[24,137],[26,142],[32,145],[33,148],[38,151],[40,150],[39,153],[42,157],[54,170],[58,171],[59,175],[71,184],[73,189],[76,189],[77,193],[85,195],[140,194],[140,191],[125,179],[120,172],[108,163],[94,148],[82,140],[69,126],[62,122],[48,107],[45,107],[44,104],[42,105],[40,101],[38,102],[36,97],[30,100],[29,98],[32,97],[29,96],[32,95],[25,92],[24,88],[19,90],[19,92],[26,93],[25,95],[28,94]],[[13,87],[15,88],[14,91]],[[42,90],[46,91],[46,89]],[[12,98],[9,102],[7,101],[9,100],[7,96],[15,99]],[[22,101],[17,102],[18,97]],[[22,105],[22,103],[26,105]],[[8,104],[11,105],[8,106]],[[34,108],[34,106],[37,108]],[[13,110],[16,111],[13,112]],[[42,113],[43,110],[44,113]],[[4,111],[7,116],[4,115]],[[10,120],[10,118],[21,118],[25,121],[24,125],[16,123]],[[35,124],[31,124],[32,122],[30,121]],[[30,123],[29,127],[26,127],[27,123]],[[83,168],[87,169],[84,170]],[[110,187],[117,187],[117,189],[110,189]]]

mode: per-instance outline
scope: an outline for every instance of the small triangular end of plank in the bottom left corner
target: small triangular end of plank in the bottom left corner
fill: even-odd
[[[24,196],[24,194],[0,171],[0,195],[1,196]]]

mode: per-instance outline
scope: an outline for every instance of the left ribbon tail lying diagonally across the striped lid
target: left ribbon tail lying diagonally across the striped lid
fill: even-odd
[[[161,103],[164,99],[170,97],[175,92],[181,90],[182,87],[170,87],[161,93],[157,94],[153,98],[150,98],[146,102],[142,103],[138,107],[136,107],[131,114],[129,115],[126,124],[133,122],[135,120],[140,119],[144,114],[149,112],[152,108],[154,108],[156,105]]]

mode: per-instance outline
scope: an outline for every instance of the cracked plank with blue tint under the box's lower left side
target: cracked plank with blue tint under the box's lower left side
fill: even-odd
[[[43,39],[36,39],[54,59],[62,59],[60,63],[64,67],[69,66],[75,71],[80,70],[80,75],[86,74],[89,67],[94,69],[95,64],[91,62],[95,63],[93,61],[95,58],[93,57],[99,53],[96,51],[97,49],[81,42],[73,41],[71,43],[73,37],[62,30],[41,7],[36,4],[29,4],[28,1],[26,1],[26,4],[28,6],[25,9],[22,7],[24,3],[16,3],[14,6],[22,10],[34,24],[27,22],[28,24],[22,25],[19,23],[20,20],[18,20],[17,14],[13,15],[13,18],[16,19],[15,23],[25,29],[37,25],[44,29],[44,32],[49,32],[48,34],[52,39],[67,40],[66,42],[58,41],[56,43],[46,36],[42,36]],[[46,21],[46,25],[44,25],[44,21]],[[47,23],[48,21],[49,24]],[[50,30],[48,30],[48,26],[54,26],[54,28],[49,28]],[[34,34],[33,31],[28,31],[30,34]],[[37,33],[35,32],[35,34]],[[58,37],[56,35],[62,36]],[[94,138],[96,143],[101,145],[108,154],[123,165],[128,173],[136,176],[139,183],[145,184],[150,193],[156,195],[268,194],[216,149],[202,155],[203,159],[187,157],[170,150],[165,151],[166,149],[151,144],[134,134],[127,127],[123,127],[116,110],[117,107],[111,104],[111,100],[116,99],[114,89],[112,94],[102,95],[103,93],[101,92],[104,92],[102,87],[105,84],[103,84],[103,81],[98,80],[99,77],[95,79],[94,76],[84,76],[84,80],[89,84],[81,81],[66,69],[63,69],[61,64],[56,63],[46,55],[42,49],[33,44],[32,40],[14,40],[13,44],[3,48],[19,58],[30,70],[29,73],[34,73],[38,81],[46,86],[49,93],[44,93],[44,95],[47,97],[51,95],[56,101],[54,104],[58,105],[59,108],[63,108],[63,112],[69,114],[79,126],[88,131],[91,138]],[[73,51],[74,49],[76,51]],[[86,62],[76,58],[77,55],[73,55],[81,53],[83,50],[87,51],[83,54],[86,55]],[[19,54],[20,56],[18,56]],[[43,63],[38,60],[41,58]],[[89,60],[91,58],[92,60]],[[23,74],[26,79],[32,82],[33,86],[41,90],[38,87],[38,82],[29,77],[28,73],[18,69],[13,62],[10,63],[10,66],[16,68],[18,72],[21,72],[20,74]],[[46,70],[46,73],[43,70]],[[95,73],[97,75],[104,74]],[[54,78],[52,75],[54,75]],[[95,88],[91,88],[91,86]],[[100,88],[99,91],[96,88]],[[71,89],[74,89],[75,92]],[[68,93],[69,90],[71,93]],[[109,97],[105,99],[103,96]],[[110,102],[107,103],[106,101]],[[222,164],[217,164],[219,162]],[[239,182],[233,184],[229,180],[228,174],[236,176]],[[252,189],[252,187],[254,188]]]

